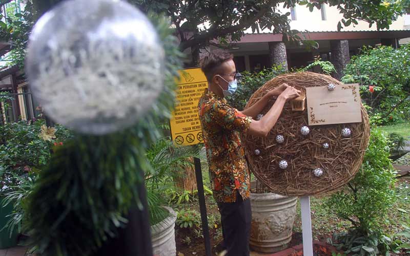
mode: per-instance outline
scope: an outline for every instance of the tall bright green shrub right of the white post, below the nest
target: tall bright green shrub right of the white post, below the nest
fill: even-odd
[[[354,179],[326,200],[326,207],[339,218],[352,223],[352,229],[337,234],[334,242],[346,253],[374,255],[382,243],[385,215],[396,200],[395,172],[389,156],[388,138],[376,128],[362,166]],[[370,249],[372,248],[372,249]]]

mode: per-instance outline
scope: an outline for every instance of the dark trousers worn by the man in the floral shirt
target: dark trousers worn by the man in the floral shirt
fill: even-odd
[[[235,203],[218,203],[221,214],[223,247],[227,256],[249,256],[251,201],[242,200],[236,191]]]

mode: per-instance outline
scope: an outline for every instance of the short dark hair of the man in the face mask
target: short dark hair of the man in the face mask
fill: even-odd
[[[227,51],[214,50],[204,55],[199,60],[199,67],[201,67],[202,72],[210,82],[212,80],[212,77],[217,74],[222,63],[233,59],[233,57],[234,56]]]

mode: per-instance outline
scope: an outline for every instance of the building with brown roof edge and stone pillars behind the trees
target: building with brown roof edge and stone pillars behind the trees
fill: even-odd
[[[336,7],[322,5],[320,10],[310,12],[305,6],[296,6],[280,11],[291,12],[291,29],[304,31],[300,36],[316,41],[316,47],[283,42],[281,34],[273,34],[268,29],[259,33],[248,29],[230,50],[239,71],[253,72],[279,63],[289,69],[300,68],[320,57],[334,63],[337,69],[334,76],[340,78],[350,56],[358,54],[363,46],[399,47],[410,37],[410,15],[399,17],[388,30],[377,31],[376,24],[370,28],[367,22],[358,21],[358,25],[351,24],[337,31],[337,24],[343,17]]]

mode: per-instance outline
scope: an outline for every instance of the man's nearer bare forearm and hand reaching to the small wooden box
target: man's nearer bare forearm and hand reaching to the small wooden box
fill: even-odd
[[[288,87],[284,90],[275,103],[273,104],[272,108],[268,111],[266,115],[264,115],[259,121],[253,120],[248,133],[253,136],[258,137],[266,137],[268,136],[269,132],[272,130],[273,126],[278,121],[280,113],[282,113],[283,106],[286,100],[294,99],[299,96],[300,91],[296,90],[293,87]]]

